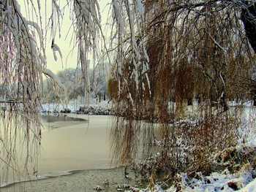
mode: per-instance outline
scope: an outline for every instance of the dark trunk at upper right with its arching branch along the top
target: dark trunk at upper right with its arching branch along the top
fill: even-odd
[[[249,44],[256,53],[256,2],[246,0],[212,0],[212,1],[185,1],[185,2],[170,2],[170,5],[160,12],[151,20],[149,26],[155,26],[156,23],[164,22],[163,15],[170,15],[172,12],[195,12],[196,15],[205,16],[206,7],[214,8],[213,12],[220,12],[223,9],[229,9],[228,11],[241,12],[241,20],[244,23],[246,31],[246,37],[249,40]]]

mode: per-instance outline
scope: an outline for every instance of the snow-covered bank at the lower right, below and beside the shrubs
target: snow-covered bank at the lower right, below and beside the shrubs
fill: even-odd
[[[238,145],[236,150],[241,148],[256,149],[256,109],[246,104],[243,114],[242,126],[238,132]],[[242,142],[243,141],[243,142]],[[256,157],[254,158],[256,161]],[[250,164],[245,164],[242,169],[235,173],[225,169],[223,172],[212,172],[209,176],[200,173],[199,178],[190,178],[185,173],[179,174],[179,182],[167,190],[170,191],[241,191],[256,192],[256,170]],[[157,190],[159,191],[159,190]]]

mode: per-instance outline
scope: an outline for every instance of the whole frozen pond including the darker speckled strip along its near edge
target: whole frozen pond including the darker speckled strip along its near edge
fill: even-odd
[[[68,117],[43,116],[42,120],[38,176],[32,178],[39,180],[15,183],[0,191],[86,192],[94,191],[94,187],[102,185],[106,178],[110,185],[105,191],[116,191],[118,184],[135,184],[132,172],[129,174],[133,177],[131,181],[124,177],[123,167],[109,169],[110,116],[69,114]]]

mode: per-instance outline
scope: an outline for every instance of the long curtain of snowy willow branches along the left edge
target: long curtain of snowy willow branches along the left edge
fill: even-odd
[[[31,174],[28,171],[30,162],[33,162],[33,172],[37,172],[37,152],[41,139],[41,82],[46,64],[40,28],[37,23],[23,17],[17,1],[1,1],[0,164],[6,175],[9,168],[14,172],[20,170],[18,160],[21,156],[25,158],[23,162],[27,174]],[[23,145],[17,145],[18,142]],[[17,151],[22,151],[22,154]]]

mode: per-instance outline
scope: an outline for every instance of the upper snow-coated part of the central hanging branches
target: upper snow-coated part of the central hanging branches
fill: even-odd
[[[150,87],[147,78],[148,55],[146,53],[145,33],[144,33],[144,9],[141,1],[112,1],[113,27],[111,34],[110,47],[117,47],[113,53],[113,69],[116,69],[116,79],[119,81],[119,88],[125,89],[129,83],[135,83],[136,89],[144,88],[142,81],[146,81]],[[127,39],[129,39],[127,41]],[[124,77],[124,71],[129,66],[129,75]],[[125,80],[121,83],[121,79]],[[132,80],[132,81],[131,81]],[[129,90],[129,88],[128,88]],[[119,90],[120,94],[122,90]],[[135,96],[128,93],[128,97]],[[132,101],[132,99],[131,99]]]

